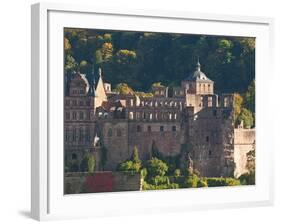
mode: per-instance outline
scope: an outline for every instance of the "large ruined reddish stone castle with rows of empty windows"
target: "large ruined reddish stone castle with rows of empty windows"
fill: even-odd
[[[195,71],[179,87],[154,85],[152,97],[122,95],[79,72],[67,82],[64,105],[65,161],[93,153],[96,170],[114,171],[130,158],[162,155],[181,158],[206,177],[239,177],[247,172],[247,152],[255,130],[236,128],[234,95],[215,94],[214,82]]]

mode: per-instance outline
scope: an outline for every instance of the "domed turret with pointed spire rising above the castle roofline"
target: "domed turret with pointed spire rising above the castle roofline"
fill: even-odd
[[[186,94],[214,94],[214,82],[201,71],[199,58],[195,71],[184,79],[181,85]]]

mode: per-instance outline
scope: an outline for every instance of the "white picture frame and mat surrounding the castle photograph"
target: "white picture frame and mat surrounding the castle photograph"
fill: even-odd
[[[31,214],[37,220],[175,212],[273,204],[273,143],[269,102],[272,91],[272,18],[95,6],[32,5]],[[256,37],[255,186],[63,194],[63,27],[166,31]],[[61,76],[60,76],[61,74]],[[135,203],[138,201],[138,203]],[[126,206],[130,205],[130,206]],[[134,205],[134,206],[132,206]]]

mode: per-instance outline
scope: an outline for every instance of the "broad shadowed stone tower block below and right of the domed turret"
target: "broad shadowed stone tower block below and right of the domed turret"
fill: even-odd
[[[229,108],[205,107],[189,115],[188,151],[202,176],[233,176],[233,113]]]

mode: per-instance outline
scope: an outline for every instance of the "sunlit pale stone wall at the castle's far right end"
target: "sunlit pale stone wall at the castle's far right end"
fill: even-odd
[[[247,153],[255,149],[255,129],[234,130],[234,176],[239,177],[247,173]]]

